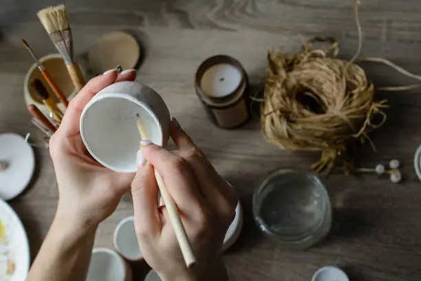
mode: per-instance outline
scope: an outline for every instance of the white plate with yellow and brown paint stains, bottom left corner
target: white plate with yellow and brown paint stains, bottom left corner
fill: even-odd
[[[6,230],[6,242],[0,242],[0,280],[24,281],[30,267],[28,236],[17,214],[3,200],[0,200],[0,220]],[[14,264],[12,275],[6,275],[7,260]]]

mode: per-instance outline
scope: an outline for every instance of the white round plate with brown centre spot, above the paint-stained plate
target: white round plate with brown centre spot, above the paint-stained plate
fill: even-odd
[[[0,160],[10,165],[0,171],[0,198],[10,200],[30,183],[35,169],[34,150],[18,134],[0,134]]]

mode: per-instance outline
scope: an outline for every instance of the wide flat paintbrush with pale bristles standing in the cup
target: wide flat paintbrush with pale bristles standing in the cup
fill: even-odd
[[[45,30],[50,34],[51,41],[63,57],[74,87],[80,91],[85,85],[85,79],[83,79],[80,67],[73,58],[72,30],[69,26],[65,6],[59,5],[39,10],[38,17]]]

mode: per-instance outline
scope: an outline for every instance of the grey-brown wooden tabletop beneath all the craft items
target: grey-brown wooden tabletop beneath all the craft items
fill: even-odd
[[[322,178],[334,206],[334,224],[327,240],[307,251],[283,251],[263,238],[252,219],[252,191],[268,172],[279,167],[309,169],[315,154],[281,152],[266,143],[259,122],[235,130],[210,123],[193,89],[199,63],[214,54],[229,54],[246,68],[252,83],[262,81],[268,48],[299,50],[303,40],[334,36],[341,55],[350,58],[357,46],[354,1],[336,0],[180,0],[68,1],[76,52],[85,50],[106,32],[129,30],[142,42],[144,61],[138,81],[164,96],[171,113],[208,154],[213,165],[237,186],[244,205],[244,229],[225,253],[231,280],[310,280],[319,267],[343,267],[352,280],[421,280],[421,186],[413,172],[413,153],[421,143],[421,94],[379,92],[391,109],[387,124],[375,132],[378,152],[366,146],[363,167],[387,165],[398,158],[404,182],[389,183],[376,175]],[[36,54],[55,52],[36,19],[39,8],[52,1],[1,1],[0,11],[0,132],[30,132],[23,102],[23,78],[32,64],[20,39],[30,41]],[[421,73],[421,3],[418,0],[364,0],[360,8],[364,43],[362,56],[382,56]],[[385,65],[363,65],[376,85],[405,85],[410,79]],[[0,148],[1,149],[1,148]],[[49,153],[35,149],[36,174],[30,188],[10,204],[23,220],[32,258],[52,222],[57,186]],[[112,247],[116,223],[133,213],[122,202],[100,225],[96,247]],[[149,270],[133,264],[137,280]]]

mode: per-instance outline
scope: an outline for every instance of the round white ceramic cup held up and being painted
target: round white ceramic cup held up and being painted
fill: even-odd
[[[118,172],[138,169],[136,153],[140,134],[137,116],[149,133],[149,140],[166,146],[170,114],[162,97],[137,82],[118,82],[101,90],[80,116],[80,135],[89,153],[102,165]]]

